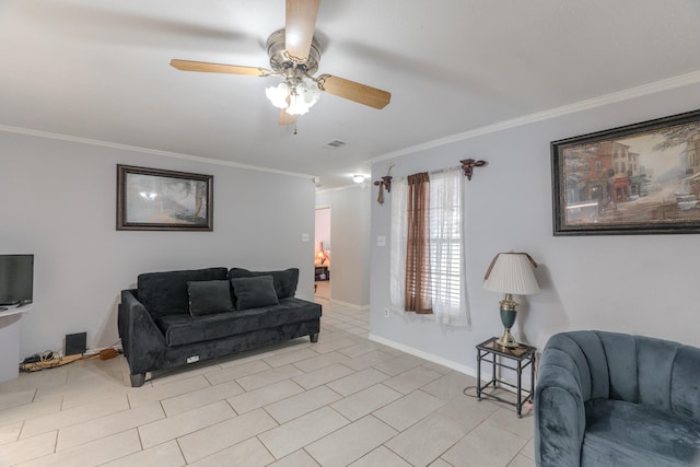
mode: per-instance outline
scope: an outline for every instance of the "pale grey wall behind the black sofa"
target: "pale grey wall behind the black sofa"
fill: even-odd
[[[116,164],[214,176],[213,232],[116,231]],[[141,272],[211,266],[299,267],[313,300],[312,180],[0,131],[0,253],[35,254],[34,308],[21,357],[115,343],[121,289]]]

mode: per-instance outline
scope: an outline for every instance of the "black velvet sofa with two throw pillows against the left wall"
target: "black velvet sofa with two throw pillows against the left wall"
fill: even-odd
[[[322,307],[295,299],[299,269],[149,272],[121,291],[119,337],[131,386],[145,373],[298,337],[318,340]]]

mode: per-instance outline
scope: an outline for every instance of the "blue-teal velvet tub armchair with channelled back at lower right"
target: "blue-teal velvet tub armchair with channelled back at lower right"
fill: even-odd
[[[700,349],[562,332],[547,342],[538,371],[537,466],[698,465]]]

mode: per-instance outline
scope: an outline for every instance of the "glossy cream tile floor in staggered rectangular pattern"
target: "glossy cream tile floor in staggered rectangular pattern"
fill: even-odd
[[[534,466],[533,416],[368,340],[324,304],[307,338],[128,384],[121,355],[0,385],[0,466]],[[471,392],[474,394],[474,392]]]

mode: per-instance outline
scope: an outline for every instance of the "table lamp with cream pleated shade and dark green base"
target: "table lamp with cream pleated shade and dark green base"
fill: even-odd
[[[533,267],[537,262],[527,253],[499,253],[495,255],[483,277],[483,288],[492,292],[502,292],[505,297],[501,304],[501,323],[503,323],[503,336],[497,343],[509,349],[518,347],[513,338],[511,328],[515,324],[517,303],[513,301],[513,294],[532,295],[539,292],[539,285]]]

